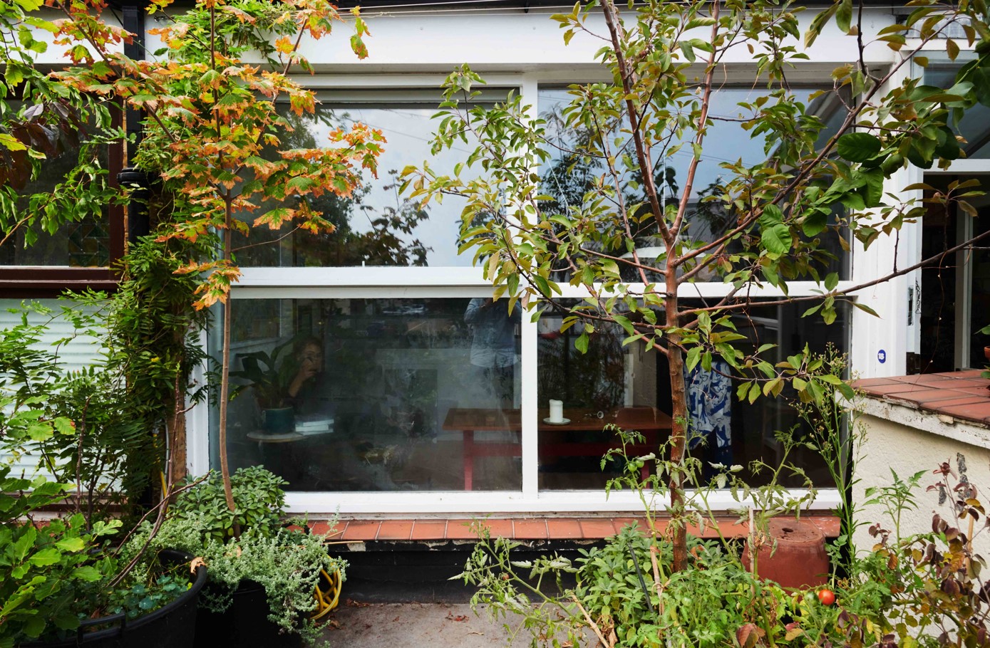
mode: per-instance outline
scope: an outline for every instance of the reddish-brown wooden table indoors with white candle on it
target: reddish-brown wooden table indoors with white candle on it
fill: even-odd
[[[545,421],[546,411],[540,411],[540,422],[537,429],[540,432],[556,431],[602,431],[605,425],[614,423],[623,429],[637,430],[645,436],[644,443],[629,446],[634,453],[655,451],[660,444],[660,432],[670,431],[671,419],[656,408],[622,408],[613,412],[604,412],[598,417],[598,412],[587,409],[565,410],[563,417],[569,419],[565,423],[549,423]],[[460,431],[464,435],[464,490],[473,490],[474,459],[477,457],[519,457],[522,456],[520,442],[491,442],[475,443],[476,431],[515,431],[522,430],[522,417],[519,410],[480,410],[451,408],[446,413],[443,428]],[[613,432],[602,431],[603,435]],[[617,440],[602,441],[557,441],[540,443],[540,454],[556,457],[588,457],[602,456],[610,449],[618,447]],[[644,477],[648,474],[643,468]]]

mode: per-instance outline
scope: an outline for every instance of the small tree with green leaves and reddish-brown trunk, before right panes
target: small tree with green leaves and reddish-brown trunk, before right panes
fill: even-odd
[[[546,122],[532,119],[519,97],[494,108],[462,108],[459,102],[475,96],[472,87],[482,82],[467,66],[446,80],[446,117],[435,147],[452,147],[472,134],[480,143],[464,168],[480,165],[484,172],[477,179],[462,177],[459,168],[452,176],[440,176],[426,164],[406,169],[406,188],[424,204],[445,194],[466,199],[464,248],[473,249],[496,286],[496,297],[507,295],[510,309],[518,302],[536,309],[535,318],[540,304],[564,310],[563,326],[581,331],[579,350],[587,349],[597,328],[616,324],[628,335],[625,343],[666,356],[673,407],[670,460],[678,465],[689,424],[685,367],[701,364],[711,370],[713,359],[722,358],[740,381],[739,398],[750,402],[760,395],[779,396],[787,385],[810,402],[821,403],[834,391],[830,386],[851,395],[841,376],[823,371],[822,360],[807,349],[774,364],[761,357],[772,345],[753,353],[738,348],[744,335],[731,316],[755,304],[751,289],[768,284],[786,296],[789,281],[814,280],[821,296],[761,304],[808,302],[805,315],[817,314],[831,324],[842,301],[870,312],[848,297],[851,292],[918,267],[839,291],[839,274],[828,267],[833,255],[823,242],[827,235],[838,235],[847,252],[845,232],[865,247],[921,216],[922,205],[885,195],[884,181],[907,161],[929,168],[958,157],[950,119],[957,123],[968,106],[990,101],[984,4],[950,7],[923,0],[912,6],[903,24],[875,37],[902,53],[879,74],[865,63],[868,28],[862,24],[861,4],[854,11],[851,0],[840,0],[812,21],[805,45],[835,25],[856,52],[833,73],[844,114],[830,130],[788,82],[789,70],[807,58],[800,51],[801,8],[792,3],[645,0],[621,10],[614,0],[578,2],[553,20],[565,44],[586,36],[603,40],[607,45],[597,55],[612,78],[570,86],[569,103],[556,116],[577,134],[567,148],[558,149],[566,161],[564,173],[570,175],[563,183],[567,199],[559,192],[545,195],[554,186],[541,183],[539,169],[554,152]],[[604,19],[597,25],[596,16]],[[935,39],[944,39],[945,51],[955,59],[959,44],[943,36],[950,26],[961,29],[965,45],[978,53],[962,66],[957,83],[940,89],[910,75],[898,82],[912,56]],[[722,162],[721,179],[699,192],[698,165],[710,157],[706,133],[714,120],[724,118],[712,112],[723,83],[722,65],[730,51],[743,48],[756,67],[746,85],[762,85],[766,94],[740,104],[739,120],[753,137],[765,139],[766,157],[756,164]],[[927,63],[922,56],[914,60]],[[672,177],[666,165],[677,151],[690,156],[683,178]],[[560,167],[551,166],[544,178],[559,176]],[[554,185],[561,184],[559,177],[555,180]],[[671,190],[674,198],[665,200]],[[697,195],[702,202],[696,204]],[[930,201],[960,201],[967,195],[968,187],[958,185]],[[658,240],[662,248],[655,259],[641,251],[649,240]],[[682,288],[706,275],[729,284],[728,295],[700,306],[683,302]],[[560,282],[580,286],[588,298],[576,306],[561,303]],[[686,557],[683,475],[675,470],[668,487],[674,565],[681,569]]]

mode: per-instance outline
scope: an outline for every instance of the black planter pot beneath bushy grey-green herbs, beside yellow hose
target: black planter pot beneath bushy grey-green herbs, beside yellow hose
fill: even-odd
[[[196,615],[195,648],[298,648],[302,637],[280,633],[278,624],[268,620],[268,597],[253,581],[242,581],[234,601],[223,612],[200,608]]]

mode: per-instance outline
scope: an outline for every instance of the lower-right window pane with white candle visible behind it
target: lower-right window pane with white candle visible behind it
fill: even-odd
[[[806,309],[800,305],[766,306],[737,315],[734,323],[748,338],[748,342],[738,342],[738,347],[746,352],[747,346],[755,350],[760,344],[778,344],[769,355],[764,354],[771,362],[800,351],[806,343],[819,351],[828,343],[846,348],[844,311],[836,324],[829,326],[820,319],[801,318]],[[541,408],[548,412],[551,399],[563,406],[562,420],[541,414],[540,488],[599,489],[608,479],[619,476],[622,468],[618,460],[610,460],[602,469],[602,455],[620,445],[614,432],[603,429],[605,424],[644,433],[645,444],[631,448],[630,456],[652,452],[669,439],[668,365],[661,353],[646,351],[644,345],[624,347],[626,333],[618,326],[599,327],[588,352],[582,354],[574,346],[577,334],[572,328],[559,332],[560,320],[559,314],[548,313],[540,324]],[[689,415],[700,437],[691,452],[706,466],[709,462],[746,465],[760,458],[771,465],[778,463],[782,447],[774,431],[790,429],[798,423],[797,417],[782,399],[741,403],[736,398],[735,381],[722,373],[731,372],[719,361],[711,372],[699,366],[686,376]],[[788,461],[808,471],[816,486],[831,485],[824,463],[810,451],[792,452]],[[758,484],[760,479],[755,476],[752,482]]]

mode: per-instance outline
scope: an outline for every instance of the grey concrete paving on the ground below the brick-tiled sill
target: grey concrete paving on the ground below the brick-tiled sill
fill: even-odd
[[[331,612],[324,637],[335,648],[510,645],[511,635],[503,623],[479,611],[481,614],[476,615],[466,603],[348,601]],[[529,633],[524,630],[515,645],[529,644]]]

